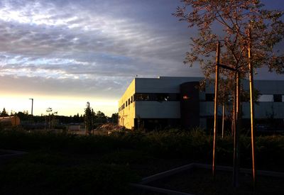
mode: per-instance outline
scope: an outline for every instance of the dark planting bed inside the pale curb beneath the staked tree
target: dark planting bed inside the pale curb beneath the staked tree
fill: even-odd
[[[217,171],[215,179],[209,169],[192,169],[147,184],[190,194],[284,194],[284,179],[258,176],[253,191],[251,174],[239,174],[239,187],[232,186],[232,173]]]

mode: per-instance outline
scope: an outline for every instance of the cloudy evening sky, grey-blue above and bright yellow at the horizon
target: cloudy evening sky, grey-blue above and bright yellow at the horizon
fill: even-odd
[[[263,1],[284,10],[282,0]],[[107,116],[134,77],[202,77],[183,64],[196,32],[178,0],[1,0],[0,111]],[[261,79],[283,76],[258,71]]]

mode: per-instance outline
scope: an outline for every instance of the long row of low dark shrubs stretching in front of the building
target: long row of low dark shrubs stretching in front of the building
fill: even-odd
[[[135,162],[143,158],[185,159],[212,162],[212,136],[204,130],[160,130],[153,132],[119,131],[111,135],[72,135],[50,132],[0,131],[0,148],[53,153],[106,155],[108,162]],[[251,139],[242,135],[239,142],[241,167],[251,167]],[[256,138],[258,169],[283,169],[284,136]],[[121,155],[121,159],[119,156]],[[123,160],[125,158],[125,160]],[[108,159],[108,160],[107,160]],[[112,159],[112,160],[111,160]],[[143,161],[141,159],[141,161]],[[217,164],[232,165],[233,138],[217,137]]]

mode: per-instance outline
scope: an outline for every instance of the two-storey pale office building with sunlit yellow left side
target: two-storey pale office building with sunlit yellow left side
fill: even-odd
[[[214,86],[198,89],[201,77],[134,78],[119,100],[119,126],[164,128],[201,126],[211,128],[214,116]],[[244,90],[249,82],[242,81]],[[284,81],[256,80],[259,102],[256,118],[273,118],[283,124]],[[243,118],[249,119],[249,101],[242,103]],[[222,108],[218,112],[222,116]],[[226,113],[229,115],[229,111]],[[213,128],[213,127],[212,127]]]

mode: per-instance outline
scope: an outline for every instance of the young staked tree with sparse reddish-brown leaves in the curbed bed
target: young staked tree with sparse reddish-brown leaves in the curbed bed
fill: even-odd
[[[258,0],[182,0],[182,2],[184,6],[178,7],[174,15],[180,18],[180,21],[189,23],[189,27],[197,27],[199,33],[197,38],[191,38],[191,49],[187,52],[185,64],[192,66],[195,62],[199,62],[205,78],[210,79],[219,66],[217,65],[215,70],[216,64],[213,59],[216,42],[223,42],[223,48],[219,49],[218,46],[217,49],[222,52],[221,62],[217,60],[217,63],[234,69],[234,72],[222,69],[222,73],[224,79],[235,82],[234,121],[237,123],[241,117],[239,106],[241,78],[249,75],[254,182],[253,69],[266,66],[269,71],[284,73],[284,55],[273,50],[274,46],[284,38],[284,23],[281,21],[284,12],[263,9],[264,5]],[[191,10],[187,11],[187,7],[191,7]],[[234,126],[235,134],[236,127],[239,128],[239,125]]]

